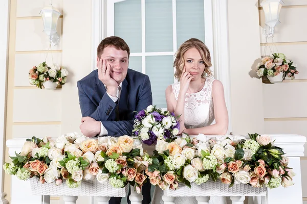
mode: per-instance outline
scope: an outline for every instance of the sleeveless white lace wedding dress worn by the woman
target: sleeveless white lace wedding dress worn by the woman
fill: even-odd
[[[214,109],[212,100],[212,83],[214,79],[207,78],[203,89],[197,93],[186,93],[185,107],[184,107],[184,123],[185,127],[196,128],[210,125],[214,120]],[[180,90],[180,82],[172,84],[172,89],[176,100]],[[151,204],[163,204],[163,191],[155,188]],[[196,204],[194,197],[177,197],[176,204]],[[224,197],[211,196],[209,201],[211,204],[224,204],[226,199]]]

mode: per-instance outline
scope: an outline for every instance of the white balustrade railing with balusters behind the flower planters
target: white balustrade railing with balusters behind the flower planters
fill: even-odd
[[[304,144],[306,138],[300,135],[270,135],[275,140],[275,146],[283,148],[286,152],[286,156],[289,157],[289,167],[293,168],[296,175],[293,177],[294,186],[276,189],[268,189],[266,196],[258,196],[248,198],[249,204],[274,204],[274,203],[295,203],[302,204],[302,187],[301,187],[301,170],[300,170],[300,158],[304,156]],[[216,137],[216,136],[210,136]],[[26,138],[11,139],[6,142],[9,147],[9,155],[15,156],[15,151],[20,152]],[[12,176],[12,188],[11,192],[11,204],[50,204],[50,196],[33,196],[31,194],[31,188],[29,182],[19,181],[16,176]],[[17,193],[18,192],[18,193]],[[21,193],[21,194],[20,194]],[[289,196],[291,195],[291,196]],[[162,199],[164,204],[174,204],[176,197],[168,197],[164,193]],[[78,196],[64,196],[65,204],[75,204]],[[97,204],[108,203],[109,197],[95,197]],[[131,204],[141,204],[143,196],[138,194],[134,187],[131,188],[131,195],[129,196]],[[199,204],[208,204],[209,196],[206,196],[205,192],[202,195],[198,195],[196,200]],[[231,196],[233,204],[243,204],[244,196]]]

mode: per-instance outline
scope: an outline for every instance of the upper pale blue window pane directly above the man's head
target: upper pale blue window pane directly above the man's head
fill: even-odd
[[[142,52],[141,0],[114,4],[114,35],[123,38],[130,53]]]

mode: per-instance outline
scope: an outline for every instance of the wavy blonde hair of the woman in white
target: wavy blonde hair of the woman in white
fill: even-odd
[[[211,77],[212,73],[211,73],[210,67],[212,66],[212,64],[211,64],[210,51],[208,47],[201,40],[196,39],[196,38],[191,38],[185,41],[182,45],[180,45],[175,55],[176,59],[173,64],[173,67],[176,67],[174,76],[177,79],[180,79],[183,67],[185,65],[185,60],[183,56],[187,52],[187,50],[189,50],[190,48],[197,49],[202,57],[202,60],[204,61],[205,70],[202,74],[202,78]]]

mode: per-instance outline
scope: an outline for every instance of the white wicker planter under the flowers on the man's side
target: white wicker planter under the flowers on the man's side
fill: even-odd
[[[110,184],[101,184],[96,179],[82,181],[78,188],[69,188],[65,182],[56,186],[55,183],[41,184],[38,177],[30,179],[33,195],[53,195],[53,196],[107,196],[107,197],[125,197],[128,194],[129,185],[124,188],[113,188]]]

